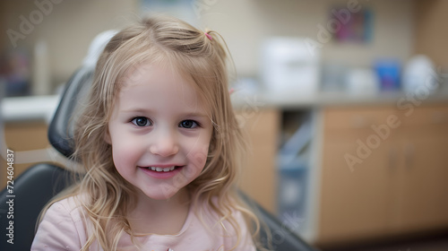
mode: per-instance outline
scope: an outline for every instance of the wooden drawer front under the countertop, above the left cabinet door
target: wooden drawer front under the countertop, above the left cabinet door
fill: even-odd
[[[325,130],[369,129],[372,125],[387,123],[398,118],[393,108],[327,108],[324,111]]]

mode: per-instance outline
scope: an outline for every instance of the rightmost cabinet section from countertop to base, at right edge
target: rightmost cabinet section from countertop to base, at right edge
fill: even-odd
[[[448,108],[417,108],[404,117],[400,214],[395,228],[422,230],[448,224]]]

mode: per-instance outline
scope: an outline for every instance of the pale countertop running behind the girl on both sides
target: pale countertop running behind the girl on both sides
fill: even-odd
[[[6,98],[1,102],[1,117],[6,122],[41,120],[47,123],[53,117],[59,103],[59,95]],[[240,109],[307,109],[335,106],[396,106],[407,102],[419,105],[448,103],[448,90],[427,95],[421,93],[383,92],[369,95],[354,95],[345,92],[318,92],[312,95],[272,93],[267,91],[235,91],[231,95],[235,108]]]

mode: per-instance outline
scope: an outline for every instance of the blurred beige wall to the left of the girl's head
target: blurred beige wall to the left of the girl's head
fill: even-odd
[[[32,55],[33,45],[39,39],[47,42],[49,71],[53,85],[67,81],[82,64],[91,40],[99,32],[119,29],[135,16],[137,0],[52,0],[52,9],[24,39],[17,40],[17,48],[27,50]],[[52,3],[39,0],[40,3]],[[47,7],[50,10],[49,7]],[[21,18],[30,21],[30,13],[39,11],[35,1],[2,1],[4,26],[21,32]],[[3,29],[4,31],[6,29]],[[3,31],[2,31],[3,32]],[[7,34],[0,44],[13,48]],[[4,48],[2,47],[2,48]]]

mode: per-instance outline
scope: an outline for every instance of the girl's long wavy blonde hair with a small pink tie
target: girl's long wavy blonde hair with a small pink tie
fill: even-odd
[[[94,243],[105,250],[116,250],[124,232],[134,237],[125,216],[135,204],[136,188],[116,171],[111,146],[104,136],[120,83],[142,63],[168,62],[189,74],[195,91],[211,109],[213,132],[208,158],[201,175],[187,186],[191,203],[205,202],[220,216],[218,223],[228,221],[237,233],[237,242],[242,241],[242,233],[232,212],[242,212],[254,236],[258,232],[259,221],[237,195],[246,143],[229,99],[227,47],[216,31],[206,32],[175,18],[157,16],[118,32],[99,56],[90,97],[74,131],[74,158],[82,162],[85,176],[64,195],[82,195],[79,203],[92,222],[92,234],[82,250]]]

